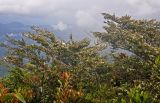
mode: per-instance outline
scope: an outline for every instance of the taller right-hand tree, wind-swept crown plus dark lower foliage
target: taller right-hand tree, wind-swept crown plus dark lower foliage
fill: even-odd
[[[132,53],[131,56],[126,53],[114,56],[111,72],[113,82],[120,87],[127,83],[129,88],[141,84],[157,100],[160,98],[160,68],[155,71],[154,65],[160,55],[160,22],[135,20],[130,16],[116,17],[107,13],[103,15],[105,32],[95,32],[95,37],[114,50],[122,49]]]

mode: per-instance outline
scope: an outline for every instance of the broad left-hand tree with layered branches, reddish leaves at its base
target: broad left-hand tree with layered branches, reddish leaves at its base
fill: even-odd
[[[32,29],[21,39],[7,36],[8,43],[1,43],[8,51],[1,62],[10,68],[2,83],[19,90],[28,102],[85,100],[80,94],[94,90],[99,83],[96,70],[106,64],[98,54],[102,46],[90,46],[87,39],[63,42],[45,29]]]

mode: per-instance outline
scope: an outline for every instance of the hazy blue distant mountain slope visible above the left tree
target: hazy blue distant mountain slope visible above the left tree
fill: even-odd
[[[32,25],[25,25],[22,24],[20,22],[11,22],[11,23],[7,23],[7,24],[3,24],[0,23],[0,40],[4,40],[4,35],[6,34],[19,34],[21,32],[26,32],[26,31],[30,31],[30,27]],[[38,25],[42,28],[48,29],[51,32],[54,32],[55,35],[61,39],[68,39],[70,31],[59,31],[59,30],[55,30],[52,26],[50,25]]]

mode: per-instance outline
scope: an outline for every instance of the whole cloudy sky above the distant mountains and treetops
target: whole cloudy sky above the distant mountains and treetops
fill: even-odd
[[[160,0],[0,0],[0,23],[51,25],[60,31],[99,31],[104,12],[159,19]]]

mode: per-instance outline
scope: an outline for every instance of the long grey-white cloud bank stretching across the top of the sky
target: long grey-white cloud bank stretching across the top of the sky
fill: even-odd
[[[141,16],[159,12],[160,0],[0,0],[0,14],[71,16],[93,8]]]

